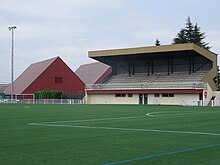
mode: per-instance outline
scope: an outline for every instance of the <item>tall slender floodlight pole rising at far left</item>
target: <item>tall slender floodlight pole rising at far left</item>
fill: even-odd
[[[8,27],[8,30],[11,31],[11,101],[13,100],[14,95],[14,29],[16,26]]]

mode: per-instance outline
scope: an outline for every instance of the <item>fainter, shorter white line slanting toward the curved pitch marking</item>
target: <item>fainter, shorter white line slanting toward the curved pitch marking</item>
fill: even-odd
[[[115,118],[102,118],[102,119],[83,119],[83,120],[64,120],[64,121],[46,121],[41,123],[77,123],[84,121],[105,121],[105,120],[121,120],[121,119],[136,119],[136,118],[144,118],[146,116],[128,116],[128,117],[115,117]]]

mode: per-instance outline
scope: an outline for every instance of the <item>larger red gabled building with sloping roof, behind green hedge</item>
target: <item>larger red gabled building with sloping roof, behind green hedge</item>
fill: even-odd
[[[31,64],[15,81],[14,95],[33,95],[36,91],[58,90],[68,95],[84,95],[84,82],[60,57]],[[5,89],[11,94],[11,85]]]

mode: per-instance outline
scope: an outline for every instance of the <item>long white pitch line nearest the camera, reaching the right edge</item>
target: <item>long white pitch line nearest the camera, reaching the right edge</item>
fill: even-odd
[[[134,132],[156,132],[156,133],[220,136],[220,134],[218,134],[218,133],[208,133],[208,132],[188,132],[188,131],[151,130],[151,129],[135,129],[135,128],[114,128],[114,127],[92,127],[92,126],[46,124],[46,123],[29,123],[29,125],[46,126],[46,127],[68,127],[68,128],[84,128],[84,129],[100,129],[100,130],[117,130],[117,131],[134,131]]]

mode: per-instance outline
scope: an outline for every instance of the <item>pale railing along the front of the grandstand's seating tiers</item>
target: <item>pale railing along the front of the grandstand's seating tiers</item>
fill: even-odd
[[[174,83],[110,83],[87,84],[86,90],[115,90],[115,89],[207,89],[207,83],[174,82]]]

